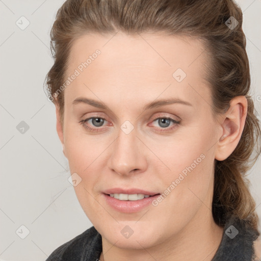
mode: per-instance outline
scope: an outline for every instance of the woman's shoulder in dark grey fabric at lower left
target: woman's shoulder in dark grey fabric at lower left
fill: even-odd
[[[92,253],[97,255],[98,252],[101,252],[101,236],[92,226],[55,249],[46,261],[69,261],[81,258],[87,260],[87,255],[92,255]]]

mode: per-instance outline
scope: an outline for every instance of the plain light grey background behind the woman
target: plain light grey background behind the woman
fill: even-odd
[[[68,181],[55,106],[43,91],[45,75],[53,65],[49,32],[63,2],[0,0],[1,261],[45,260],[58,246],[92,226]],[[261,1],[237,2],[244,13],[252,95],[260,113]],[[30,22],[24,30],[16,24],[18,20],[20,27],[26,25],[21,16]],[[261,221],[260,168],[259,159],[249,179]],[[27,230],[21,225],[30,231],[24,239],[20,237]]]

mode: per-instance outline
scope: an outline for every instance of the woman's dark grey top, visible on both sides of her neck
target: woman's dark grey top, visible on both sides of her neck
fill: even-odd
[[[230,218],[212,261],[253,261],[253,242],[259,232],[245,220]],[[46,261],[97,261],[102,251],[101,235],[94,226],[55,249]]]

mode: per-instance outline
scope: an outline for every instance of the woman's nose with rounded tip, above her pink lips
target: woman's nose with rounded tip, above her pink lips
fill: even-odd
[[[144,172],[147,169],[145,146],[136,136],[135,129],[125,134],[119,129],[118,137],[112,144],[108,167],[122,176]]]

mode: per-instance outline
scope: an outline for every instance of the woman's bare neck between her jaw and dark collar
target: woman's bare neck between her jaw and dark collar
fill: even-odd
[[[102,238],[102,249],[108,250],[104,251],[104,256],[101,253],[100,261],[211,261],[222,236],[223,228],[215,224],[212,212],[202,205],[201,210],[178,234],[147,249],[122,249]]]

